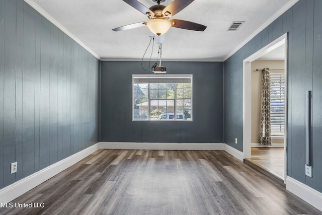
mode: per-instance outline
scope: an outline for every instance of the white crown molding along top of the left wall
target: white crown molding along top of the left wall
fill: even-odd
[[[47,12],[45,12],[39,5],[37,5],[32,0],[24,0],[25,3],[30,5],[33,9],[35,9],[39,14],[41,14],[43,17],[45,17],[49,22],[54,24],[57,28],[59,28],[62,32],[64,32],[67,36],[69,36],[72,40],[74,40],[76,43],[78,43],[80,46],[85,48],[88,52],[90,52],[93,56],[95,56],[97,59],[100,59],[100,56],[97,55],[92,49],[90,49],[87,45],[85,45],[81,40],[79,40],[75,35],[70,33],[65,27],[63,27],[57,20],[55,20],[52,16],[50,16]]]

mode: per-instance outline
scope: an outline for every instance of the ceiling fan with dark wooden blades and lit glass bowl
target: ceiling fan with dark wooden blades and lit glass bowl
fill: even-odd
[[[175,28],[182,28],[187,30],[194,30],[194,31],[204,31],[207,26],[185,21],[185,20],[177,20],[172,19],[168,21],[168,19],[180,11],[182,11],[184,8],[186,8],[188,5],[190,5],[194,0],[174,0],[172,3],[170,3],[167,7],[164,5],[160,5],[160,3],[165,2],[166,0],[151,0],[152,2],[157,3],[157,5],[153,5],[150,8],[145,7],[140,2],[136,0],[123,0],[139,12],[145,14],[149,21],[147,22],[138,22],[133,23],[130,25],[121,26],[118,28],[112,29],[113,31],[123,31],[128,30],[132,28],[138,28],[142,26],[147,26],[150,31],[153,34],[156,35],[162,35],[165,34],[170,27]]]

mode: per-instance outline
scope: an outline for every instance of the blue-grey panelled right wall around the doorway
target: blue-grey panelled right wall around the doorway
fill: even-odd
[[[322,191],[322,1],[300,0],[224,62],[224,142],[243,139],[243,60],[288,33],[287,175]],[[305,91],[312,98],[312,174],[305,176]]]

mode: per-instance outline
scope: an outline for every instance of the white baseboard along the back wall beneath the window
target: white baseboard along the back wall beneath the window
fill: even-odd
[[[167,142],[99,142],[100,149],[122,150],[223,150],[224,144]]]

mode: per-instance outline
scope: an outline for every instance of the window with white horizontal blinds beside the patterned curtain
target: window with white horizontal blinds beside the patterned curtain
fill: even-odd
[[[284,136],[285,75],[270,74],[271,88],[271,135]]]

